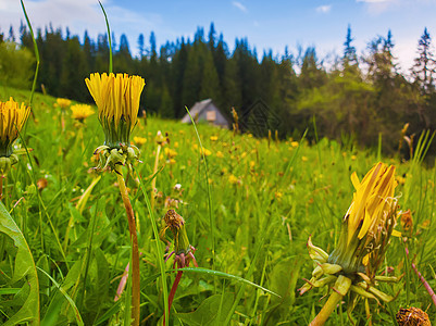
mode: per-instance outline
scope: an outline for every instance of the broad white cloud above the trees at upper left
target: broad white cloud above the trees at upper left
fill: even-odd
[[[114,1],[102,0],[101,2],[108,14],[111,30],[115,34],[116,42],[123,33],[132,37],[142,33],[147,38],[151,30],[165,29],[158,14],[142,15],[112,4]],[[54,29],[61,27],[63,36],[65,36],[65,28],[68,27],[71,34],[78,35],[80,40],[85,30],[88,30],[89,36],[96,40],[98,34],[107,30],[104,16],[97,0],[26,0],[25,7],[34,33],[38,28],[42,28],[43,33],[43,28],[51,24]],[[0,0],[0,32],[8,35],[9,27],[12,25],[15,38],[18,38],[21,22],[26,24],[20,1]],[[135,52],[136,39],[128,40],[130,51]]]

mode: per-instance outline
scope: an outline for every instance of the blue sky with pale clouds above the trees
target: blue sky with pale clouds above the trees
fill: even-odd
[[[137,54],[137,39],[149,39],[153,30],[158,46],[184,36],[192,39],[197,27],[208,35],[211,22],[223,33],[229,50],[235,39],[247,37],[258,53],[272,49],[275,55],[285,47],[297,54],[298,46],[314,46],[320,58],[340,55],[347,27],[361,54],[369,41],[394,36],[394,54],[403,72],[416,57],[418,40],[427,27],[436,36],[436,0],[103,0],[116,41],[127,36]],[[25,0],[34,28],[68,27],[83,40],[85,30],[92,39],[105,32],[97,0]],[[20,0],[0,0],[0,30],[12,24],[18,34],[24,21]],[[436,38],[433,41],[436,45]],[[328,59],[327,59],[328,61]]]

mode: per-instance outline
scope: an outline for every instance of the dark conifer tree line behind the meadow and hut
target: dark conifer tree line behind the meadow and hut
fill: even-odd
[[[32,37],[23,24],[18,41],[12,27],[8,37],[0,33],[0,43],[10,42],[20,43],[15,51],[33,51]],[[91,102],[84,79],[91,72],[108,71],[107,35],[92,40],[85,32],[80,42],[68,28],[62,33],[50,25],[37,32],[37,45],[40,90]],[[148,42],[141,34],[138,55],[132,54],[124,34],[119,42],[112,38],[114,72],[146,79],[141,108],[148,114],[180,118],[185,105],[190,108],[196,101],[212,98],[229,120],[232,108],[239,116],[250,118],[253,104],[261,101],[266,109],[262,118],[281,138],[301,135],[315,117],[319,137],[376,146],[381,134],[389,151],[398,147],[406,123],[409,134],[436,129],[436,61],[427,28],[418,39],[416,58],[407,74],[400,72],[394,48],[389,30],[358,54],[348,27],[342,54],[327,65],[314,47],[298,48],[294,53],[286,48],[283,55],[269,50],[259,55],[247,38],[240,38],[229,51],[213,23],[208,35],[198,28],[194,39],[167,41],[159,49],[153,32]],[[0,47],[0,63],[2,58]],[[249,124],[246,126],[249,128]],[[267,135],[267,130],[251,131]],[[308,137],[315,137],[314,128]]]

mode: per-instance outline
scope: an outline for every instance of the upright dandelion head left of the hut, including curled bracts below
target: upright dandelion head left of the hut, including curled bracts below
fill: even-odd
[[[96,101],[98,115],[104,130],[104,145],[96,150],[98,168],[114,168],[115,164],[130,166],[139,150],[130,145],[129,137],[138,122],[139,99],[145,82],[127,74],[91,74],[85,79]]]

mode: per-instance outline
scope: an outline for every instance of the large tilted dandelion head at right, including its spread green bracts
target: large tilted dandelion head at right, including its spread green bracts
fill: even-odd
[[[300,293],[313,287],[334,284],[336,290],[339,287],[344,290],[336,292],[340,294],[336,301],[351,290],[364,298],[388,302],[394,298],[374,286],[375,280],[396,280],[393,277],[375,276],[384,261],[397,218],[397,199],[394,197],[397,186],[395,166],[387,167],[384,163],[378,163],[362,181],[356,173],[351,175],[351,181],[356,192],[342,218],[336,249],[328,255],[321,248],[313,246],[309,238],[309,254],[317,266],[312,273],[312,278],[300,288]],[[359,296],[354,296],[354,300],[358,300]],[[327,303],[333,304],[335,300]],[[328,317],[324,309],[316,318],[321,321],[323,317]]]

